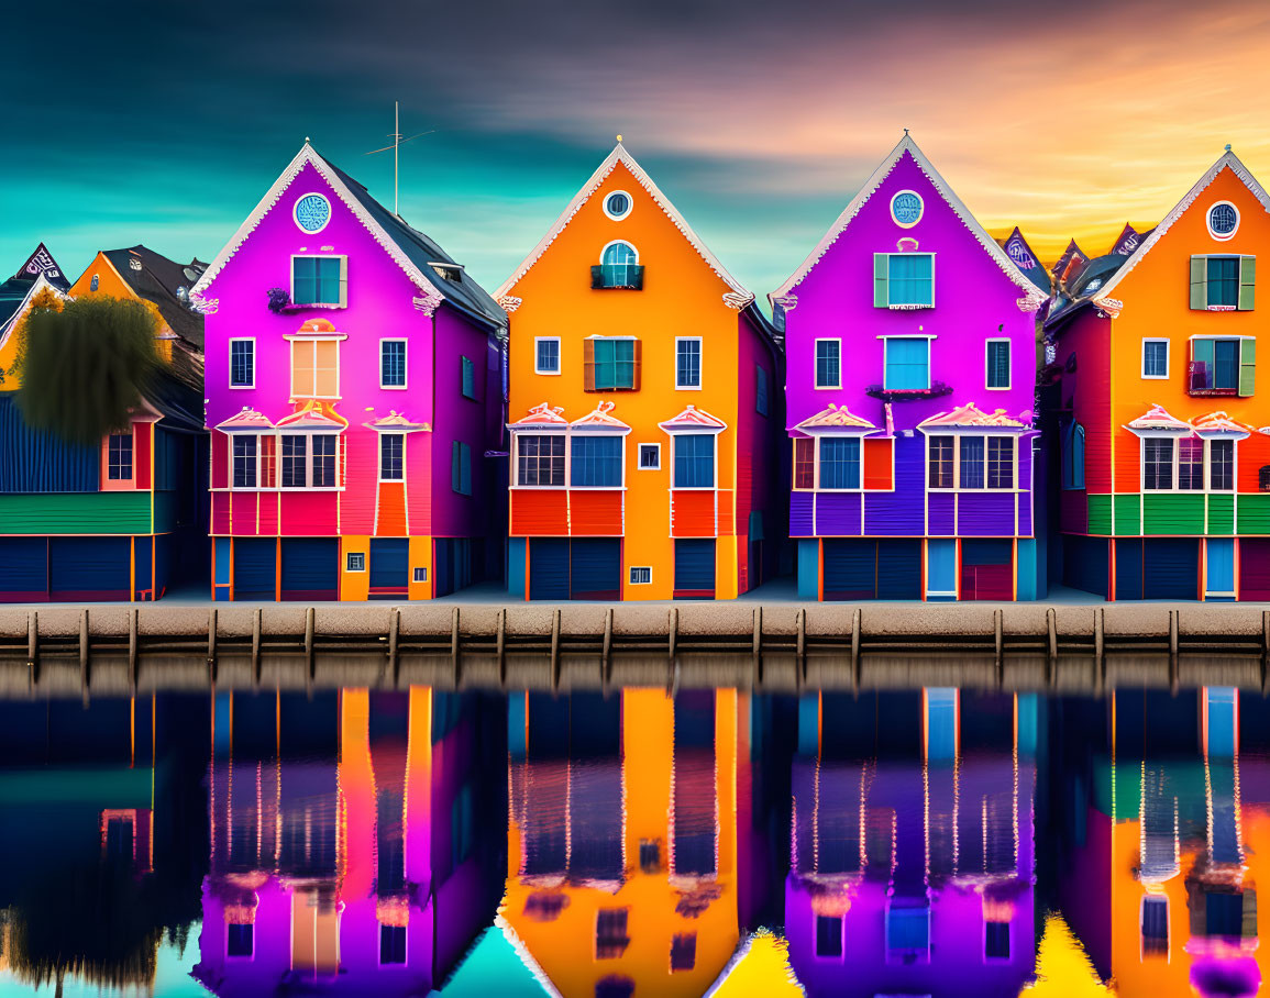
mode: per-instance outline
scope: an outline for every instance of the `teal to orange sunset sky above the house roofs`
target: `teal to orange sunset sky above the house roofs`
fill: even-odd
[[[211,259],[306,136],[486,287],[622,133],[759,297],[911,128],[1043,256],[1151,225],[1227,142],[1270,182],[1270,4],[71,0],[8,18],[0,276]]]

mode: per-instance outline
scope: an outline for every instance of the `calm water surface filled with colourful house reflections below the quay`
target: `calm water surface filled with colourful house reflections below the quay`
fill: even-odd
[[[0,995],[1252,995],[1270,707],[0,702]]]

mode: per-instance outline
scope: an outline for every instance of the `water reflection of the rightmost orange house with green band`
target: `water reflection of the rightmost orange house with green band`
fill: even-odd
[[[1256,712],[1243,731],[1265,742],[1260,697],[1120,691],[1104,707],[1109,744],[1083,766],[1069,761],[1062,904],[1123,995],[1259,993],[1270,767],[1241,762],[1241,711]],[[1090,731],[1092,714],[1068,706],[1064,736]]]

